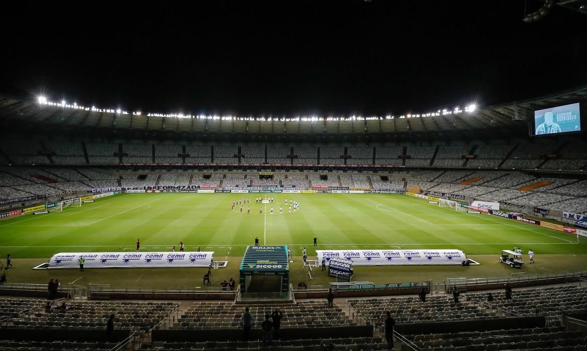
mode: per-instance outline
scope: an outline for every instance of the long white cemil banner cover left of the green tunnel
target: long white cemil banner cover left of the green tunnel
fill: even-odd
[[[208,252],[60,252],[49,259],[48,268],[176,268],[209,267],[213,251]]]

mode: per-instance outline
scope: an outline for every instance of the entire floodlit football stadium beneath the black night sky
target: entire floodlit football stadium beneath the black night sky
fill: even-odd
[[[523,31],[587,11],[525,6]],[[587,350],[570,84],[365,114],[0,91],[0,350]]]

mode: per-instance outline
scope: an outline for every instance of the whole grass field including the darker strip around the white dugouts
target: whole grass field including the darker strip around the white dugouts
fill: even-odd
[[[59,275],[70,281],[79,278],[76,282],[80,284],[194,288],[200,281],[203,271],[194,268],[88,269],[83,274],[75,269],[32,270],[58,252],[132,252],[137,238],[141,251],[171,251],[173,246],[178,250],[180,241],[185,243],[185,251],[198,247],[214,251],[215,261],[229,262],[227,268],[215,273],[222,279],[238,276],[242,254],[247,245],[254,245],[255,237],[261,244],[288,245],[293,249],[292,281],[308,280],[299,256],[302,247],[307,247],[309,259],[315,259],[314,236],[318,238],[318,249],[460,249],[481,263],[469,267],[357,267],[355,275],[362,275],[361,281],[546,275],[581,271],[587,266],[585,238],[578,242],[574,235],[440,208],[402,194],[261,195],[274,197],[274,203],[255,204],[259,196],[255,193],[121,194],[82,207],[66,207],[62,212],[0,221],[0,248],[4,255],[12,255],[15,264],[7,271],[9,282],[45,282]],[[243,205],[243,213],[240,205],[231,210],[232,201],[246,197],[249,204]],[[292,207],[289,212],[289,200],[298,201],[298,211]],[[247,214],[247,206],[251,214]],[[283,207],[283,214],[279,214],[279,207]],[[526,264],[521,270],[499,264],[501,250],[514,246],[524,252],[533,249],[538,264]],[[314,275],[312,284],[331,281],[321,272],[315,271]]]

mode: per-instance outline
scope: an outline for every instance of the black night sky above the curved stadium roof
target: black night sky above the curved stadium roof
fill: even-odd
[[[157,113],[385,115],[587,83],[587,16],[557,6],[522,22],[537,0],[146,4],[5,7],[0,93]]]

